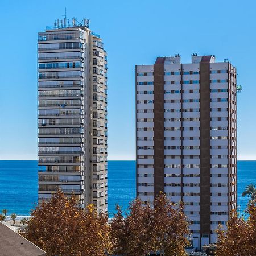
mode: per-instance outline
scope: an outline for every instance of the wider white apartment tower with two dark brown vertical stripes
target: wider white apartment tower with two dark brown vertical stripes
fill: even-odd
[[[236,68],[214,56],[136,66],[137,196],[183,201],[191,242],[216,242],[237,207]]]

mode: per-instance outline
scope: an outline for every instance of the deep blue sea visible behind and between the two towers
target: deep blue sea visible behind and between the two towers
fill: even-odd
[[[135,199],[135,161],[108,161],[108,211],[109,217],[120,205],[126,210]],[[242,197],[246,185],[256,184],[256,161],[238,161],[237,170],[238,211],[242,214],[248,202]],[[28,216],[37,201],[37,161],[0,161],[0,212]]]

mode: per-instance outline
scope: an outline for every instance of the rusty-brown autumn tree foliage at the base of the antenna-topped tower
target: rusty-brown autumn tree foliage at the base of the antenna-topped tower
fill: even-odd
[[[75,196],[57,191],[47,203],[32,210],[27,228],[20,231],[47,255],[102,256],[109,246],[108,216],[97,216],[93,205],[77,207]]]

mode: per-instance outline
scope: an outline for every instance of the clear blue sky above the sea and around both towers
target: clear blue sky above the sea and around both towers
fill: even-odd
[[[135,65],[157,56],[215,54],[237,68],[238,159],[256,160],[255,1],[2,1],[0,160],[35,160],[37,33],[84,16],[108,51],[109,160],[135,159]]]

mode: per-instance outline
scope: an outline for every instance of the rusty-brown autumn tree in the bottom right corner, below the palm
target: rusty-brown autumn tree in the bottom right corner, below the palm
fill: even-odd
[[[255,256],[256,255],[256,205],[249,201],[247,207],[249,217],[247,220],[232,213],[228,221],[227,230],[217,230],[218,256]]]

